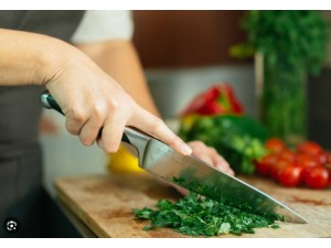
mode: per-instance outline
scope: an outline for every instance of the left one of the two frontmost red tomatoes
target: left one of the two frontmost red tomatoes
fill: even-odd
[[[302,179],[302,168],[297,165],[287,165],[280,171],[278,182],[287,187],[299,186]]]

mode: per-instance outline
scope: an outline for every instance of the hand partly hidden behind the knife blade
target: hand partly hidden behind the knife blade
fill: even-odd
[[[192,148],[192,154],[194,157],[215,166],[215,169],[234,176],[234,171],[229,168],[226,160],[220,155],[214,148],[207,147],[201,141],[191,141],[188,142],[188,144]],[[183,195],[188,195],[189,193],[189,191],[183,187],[177,185],[174,185],[174,187]]]

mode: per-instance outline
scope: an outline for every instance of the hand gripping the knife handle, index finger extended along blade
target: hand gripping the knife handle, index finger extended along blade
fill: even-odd
[[[161,119],[137,105],[115,79],[75,47],[62,46],[47,75],[44,84],[66,117],[66,129],[79,136],[83,144],[92,145],[103,128],[98,145],[116,152],[125,126],[132,126],[182,154],[192,152]]]

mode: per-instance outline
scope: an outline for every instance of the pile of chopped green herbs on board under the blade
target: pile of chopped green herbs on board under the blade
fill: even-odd
[[[195,193],[178,202],[161,200],[157,203],[158,209],[134,209],[139,219],[150,219],[151,225],[143,229],[157,227],[172,228],[189,236],[217,236],[224,234],[254,234],[254,228],[279,228],[277,217],[263,217],[233,206],[225,205]]]

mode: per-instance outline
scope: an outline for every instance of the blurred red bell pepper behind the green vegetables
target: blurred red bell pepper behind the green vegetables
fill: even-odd
[[[200,116],[242,115],[243,107],[236,99],[231,85],[218,84],[195,96],[182,116],[192,114]]]

